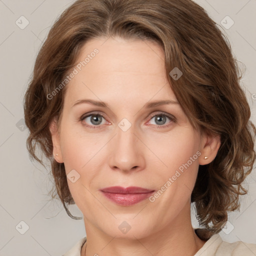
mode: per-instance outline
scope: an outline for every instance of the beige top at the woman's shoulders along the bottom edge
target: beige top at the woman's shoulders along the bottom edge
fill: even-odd
[[[86,236],[81,238],[69,251],[62,256],[81,256],[82,245]],[[242,241],[225,242],[219,234],[212,235],[194,256],[255,256],[256,244]]]

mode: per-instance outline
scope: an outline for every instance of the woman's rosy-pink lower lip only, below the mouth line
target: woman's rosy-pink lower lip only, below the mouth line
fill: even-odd
[[[101,191],[108,199],[120,205],[128,206],[136,204],[148,198],[154,191],[137,194],[115,194]]]

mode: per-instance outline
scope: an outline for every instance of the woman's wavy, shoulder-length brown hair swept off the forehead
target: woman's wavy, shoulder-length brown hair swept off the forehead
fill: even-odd
[[[81,47],[93,38],[119,36],[152,40],[165,54],[166,76],[192,126],[220,136],[216,157],[199,165],[191,193],[196,217],[209,236],[221,230],[227,212],[239,209],[242,182],[251,172],[255,126],[239,85],[239,66],[221,30],[198,4],[191,0],[77,0],[51,27],[36,57],[24,96],[24,119],[29,129],[26,147],[30,159],[42,165],[35,153],[38,145],[51,162],[54,194],[66,213],[74,204],[63,163],[54,160],[49,122],[62,113],[65,86],[49,99],[47,95],[73,67]],[[183,75],[174,80],[169,72],[178,67]]]

